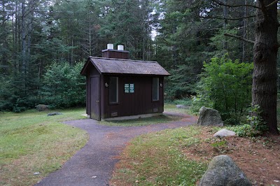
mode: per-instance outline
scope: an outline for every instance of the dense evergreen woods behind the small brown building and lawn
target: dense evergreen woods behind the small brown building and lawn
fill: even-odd
[[[275,52],[263,60],[275,61],[267,95],[274,94],[276,109],[277,11],[277,1],[253,0],[1,0],[0,110],[85,104],[78,66],[89,55],[100,57],[107,43],[123,44],[131,59],[158,61],[167,69],[167,99],[196,95],[203,62],[225,54],[247,64],[260,59],[253,50],[265,49],[254,43],[267,16],[275,24]],[[254,77],[253,100],[260,104]]]

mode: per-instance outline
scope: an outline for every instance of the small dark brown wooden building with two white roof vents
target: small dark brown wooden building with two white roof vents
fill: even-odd
[[[94,120],[148,117],[163,112],[163,79],[169,73],[158,62],[130,60],[129,52],[102,50],[89,57],[86,76],[87,115]]]

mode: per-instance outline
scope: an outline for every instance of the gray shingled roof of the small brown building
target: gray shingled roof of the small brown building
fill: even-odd
[[[135,61],[130,59],[113,59],[90,57],[90,61],[100,73],[120,73],[138,75],[169,76],[158,62]]]

